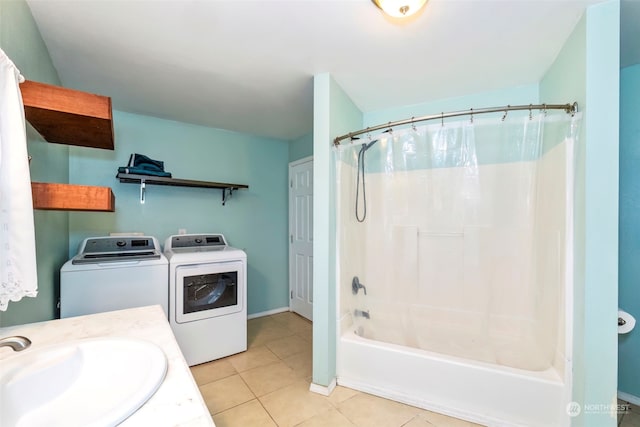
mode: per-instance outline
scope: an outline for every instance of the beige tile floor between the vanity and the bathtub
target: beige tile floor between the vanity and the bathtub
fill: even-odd
[[[248,344],[191,368],[217,427],[477,426],[345,387],[310,392],[311,322],[294,313],[250,320]]]

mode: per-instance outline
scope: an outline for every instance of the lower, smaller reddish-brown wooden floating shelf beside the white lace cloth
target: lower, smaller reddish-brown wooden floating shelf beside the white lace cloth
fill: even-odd
[[[33,208],[44,210],[114,212],[109,187],[32,182]]]

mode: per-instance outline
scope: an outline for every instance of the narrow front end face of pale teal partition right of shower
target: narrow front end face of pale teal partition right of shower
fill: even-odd
[[[619,0],[587,9],[586,37],[584,398],[610,404],[618,365]],[[616,421],[615,412],[585,414],[584,425]]]

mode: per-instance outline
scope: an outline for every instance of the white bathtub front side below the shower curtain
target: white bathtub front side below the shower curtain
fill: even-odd
[[[555,368],[525,371],[382,343],[344,330],[339,385],[486,426],[564,426],[568,390]]]

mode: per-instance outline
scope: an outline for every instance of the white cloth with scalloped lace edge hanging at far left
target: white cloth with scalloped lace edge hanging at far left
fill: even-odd
[[[0,49],[0,311],[38,293],[22,81]]]

